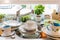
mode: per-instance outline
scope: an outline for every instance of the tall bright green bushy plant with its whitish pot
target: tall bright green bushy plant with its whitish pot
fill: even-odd
[[[44,6],[43,5],[36,5],[34,7],[34,13],[36,14],[36,21],[40,21],[41,14],[44,12]]]

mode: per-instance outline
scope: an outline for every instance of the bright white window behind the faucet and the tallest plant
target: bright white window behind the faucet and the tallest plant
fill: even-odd
[[[5,14],[16,14],[16,12],[21,9],[21,5],[23,4],[0,4],[0,13]],[[21,14],[31,11],[34,9],[34,6],[37,4],[26,4],[26,8],[21,10]],[[58,11],[57,4],[43,4],[45,6],[45,12],[43,14],[51,14],[53,9]]]

